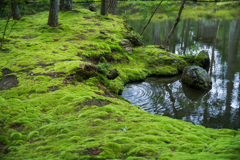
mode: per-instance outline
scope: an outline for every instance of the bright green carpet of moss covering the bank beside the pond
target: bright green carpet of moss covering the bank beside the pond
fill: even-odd
[[[183,57],[153,46],[130,55],[119,46],[128,26],[112,16],[64,12],[58,28],[47,17],[25,16],[7,30],[0,68],[19,84],[0,91],[0,159],[239,159],[239,132],[152,115],[114,94],[130,81],[177,74]],[[99,64],[120,76],[82,72]]]

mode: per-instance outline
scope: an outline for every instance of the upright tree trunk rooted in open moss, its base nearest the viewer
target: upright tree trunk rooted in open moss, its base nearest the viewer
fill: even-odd
[[[58,26],[58,7],[58,0],[50,0],[48,25],[51,27]]]

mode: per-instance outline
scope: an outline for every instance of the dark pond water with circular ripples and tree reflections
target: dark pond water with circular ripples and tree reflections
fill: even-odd
[[[146,44],[163,44],[174,20],[155,20],[148,26]],[[145,22],[129,24],[138,32]],[[234,20],[182,19],[171,39],[170,50],[188,54],[192,46],[207,50],[213,87],[201,92],[186,87],[181,75],[151,77],[125,86],[122,97],[144,110],[210,128],[240,128],[240,17]]]

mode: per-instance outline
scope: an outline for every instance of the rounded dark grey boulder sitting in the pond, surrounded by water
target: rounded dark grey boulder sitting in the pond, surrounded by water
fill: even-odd
[[[199,66],[187,66],[183,70],[182,81],[187,86],[207,90],[212,88],[212,80],[207,71]]]

